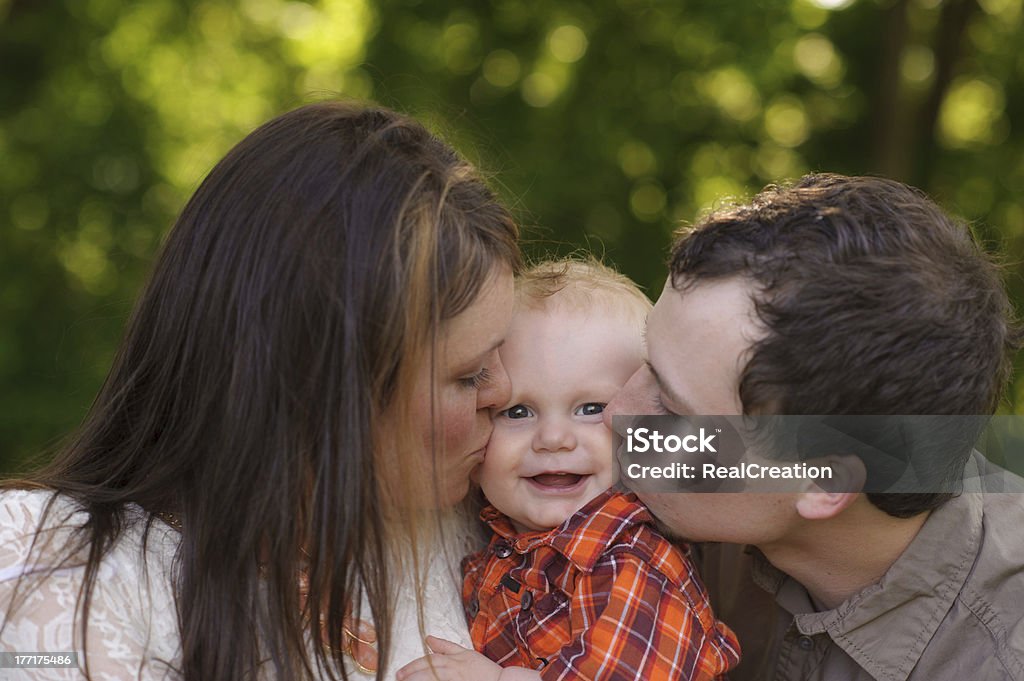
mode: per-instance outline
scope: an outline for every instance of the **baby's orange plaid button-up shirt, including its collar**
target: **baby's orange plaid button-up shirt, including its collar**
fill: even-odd
[[[463,560],[477,650],[553,679],[718,679],[739,662],[687,554],[637,498],[607,491],[561,526],[518,534],[488,506],[494,536]],[[684,553],[685,551],[685,553]]]

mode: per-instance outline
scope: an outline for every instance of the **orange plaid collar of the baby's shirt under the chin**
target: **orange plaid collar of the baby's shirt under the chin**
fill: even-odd
[[[616,537],[634,525],[649,522],[651,516],[635,495],[607,490],[561,525],[545,531],[517,533],[508,516],[494,506],[480,511],[480,519],[507,540],[516,553],[550,546],[579,569],[590,570]]]

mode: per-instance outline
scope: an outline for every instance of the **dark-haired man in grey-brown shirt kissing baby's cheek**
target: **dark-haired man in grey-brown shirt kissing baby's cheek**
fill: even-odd
[[[990,415],[1019,334],[965,224],[898,182],[810,175],[679,238],[647,344],[609,423]],[[943,475],[975,459],[947,458]],[[640,497],[705,543],[713,605],[743,649],[734,681],[1024,679],[1024,497],[928,492]]]

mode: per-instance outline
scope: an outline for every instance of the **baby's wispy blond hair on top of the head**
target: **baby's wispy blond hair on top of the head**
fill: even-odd
[[[516,280],[516,300],[520,305],[544,308],[552,304],[556,294],[557,304],[568,304],[577,309],[591,310],[595,309],[595,303],[613,301],[641,323],[652,307],[633,280],[593,256],[544,260]]]

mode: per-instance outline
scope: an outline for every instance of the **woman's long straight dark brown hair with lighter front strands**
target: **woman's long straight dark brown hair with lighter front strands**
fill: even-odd
[[[156,514],[181,520],[184,679],[344,676],[360,589],[385,661],[391,530],[374,426],[432,361],[438,325],[496,268],[518,268],[516,239],[474,170],[387,110],[303,107],[231,150],[170,232],[79,431],[3,485],[88,512],[67,548],[88,556],[83,639],[135,504],[146,531]]]

